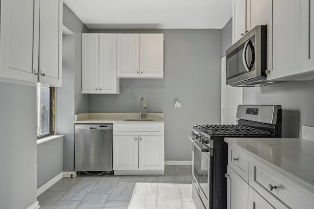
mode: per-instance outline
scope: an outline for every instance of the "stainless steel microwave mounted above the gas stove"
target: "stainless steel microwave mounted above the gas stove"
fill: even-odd
[[[266,81],[266,25],[258,25],[226,51],[226,84],[264,86]]]

